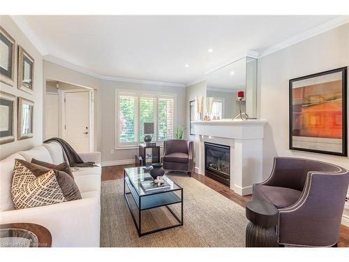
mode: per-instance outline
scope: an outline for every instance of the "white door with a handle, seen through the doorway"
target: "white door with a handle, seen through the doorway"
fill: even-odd
[[[87,92],[64,94],[64,140],[76,152],[89,152],[90,95]]]

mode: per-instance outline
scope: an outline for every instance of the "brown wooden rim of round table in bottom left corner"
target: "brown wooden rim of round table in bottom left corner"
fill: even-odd
[[[13,224],[1,224],[0,229],[19,229],[19,230],[26,230],[34,233],[36,235],[36,238],[38,242],[36,242],[37,247],[51,247],[52,244],[52,236],[50,231],[48,231],[47,228],[44,226],[40,226],[38,224],[31,224],[31,223],[13,223]],[[12,235],[10,233],[11,237],[20,236],[20,235]]]

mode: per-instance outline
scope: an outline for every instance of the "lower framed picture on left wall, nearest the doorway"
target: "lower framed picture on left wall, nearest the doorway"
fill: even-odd
[[[34,102],[18,98],[17,139],[33,137]]]

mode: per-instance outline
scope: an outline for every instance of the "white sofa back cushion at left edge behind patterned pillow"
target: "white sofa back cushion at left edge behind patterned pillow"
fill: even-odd
[[[24,157],[20,154],[11,154],[10,157],[0,161],[0,211],[13,210],[15,208],[11,196],[11,179],[15,159],[24,160]]]

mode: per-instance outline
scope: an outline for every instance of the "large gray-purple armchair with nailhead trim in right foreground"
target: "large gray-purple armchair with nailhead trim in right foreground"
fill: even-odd
[[[253,199],[279,210],[280,246],[336,246],[348,190],[348,170],[310,159],[275,157],[272,174],[253,184]]]

